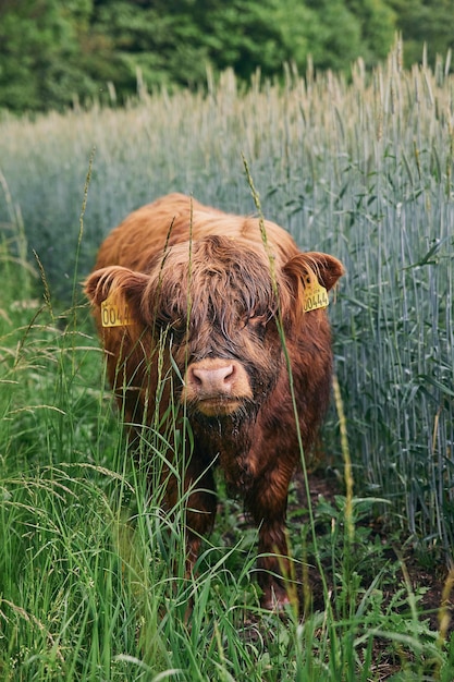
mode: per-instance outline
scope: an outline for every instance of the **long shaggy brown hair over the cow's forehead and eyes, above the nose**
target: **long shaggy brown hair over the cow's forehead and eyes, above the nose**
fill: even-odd
[[[172,338],[181,369],[205,357],[240,360],[262,382],[274,374],[268,337],[278,307],[268,256],[240,240],[209,238],[173,247],[144,292],[147,326]]]

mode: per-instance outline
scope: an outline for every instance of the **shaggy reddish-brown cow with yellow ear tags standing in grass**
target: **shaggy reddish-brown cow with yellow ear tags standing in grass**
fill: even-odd
[[[272,222],[170,194],[111,232],[85,285],[125,421],[137,429],[157,423],[158,383],[159,410],[172,390],[188,416],[188,567],[213,524],[219,464],[259,526],[268,608],[289,601],[279,576],[287,570],[287,489],[300,458],[292,392],[308,451],[330,394],[327,291],[342,272],[332,256],[300,253]],[[169,508],[177,489],[170,476]]]

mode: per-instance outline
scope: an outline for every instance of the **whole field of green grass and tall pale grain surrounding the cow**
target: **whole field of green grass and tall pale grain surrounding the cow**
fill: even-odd
[[[397,44],[351,82],[207,77],[207,92],[0,121],[0,677],[451,682],[449,60],[404,70]],[[291,496],[285,618],[259,609],[256,534],[224,497],[184,579],[181,510],[165,516],[146,461],[133,466],[81,288],[102,236],[161,194],[253,212],[243,156],[263,215],[346,267],[333,403]],[[164,456],[159,434],[144,439]]]

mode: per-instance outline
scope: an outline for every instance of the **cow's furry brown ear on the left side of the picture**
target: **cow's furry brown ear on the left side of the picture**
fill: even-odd
[[[127,303],[133,314],[139,315],[142,296],[149,282],[143,272],[134,272],[121,266],[110,266],[95,270],[85,280],[84,290],[95,306],[100,306],[108,299],[116,305]]]

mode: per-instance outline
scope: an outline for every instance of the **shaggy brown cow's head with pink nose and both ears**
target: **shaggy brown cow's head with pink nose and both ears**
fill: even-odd
[[[165,339],[189,412],[222,417],[263,402],[282,368],[282,331],[305,324],[307,282],[329,290],[342,272],[326,254],[302,253],[282,265],[262,244],[209,236],[172,246],[148,273],[97,270],[85,290],[96,306],[112,296],[125,302],[139,330]]]

